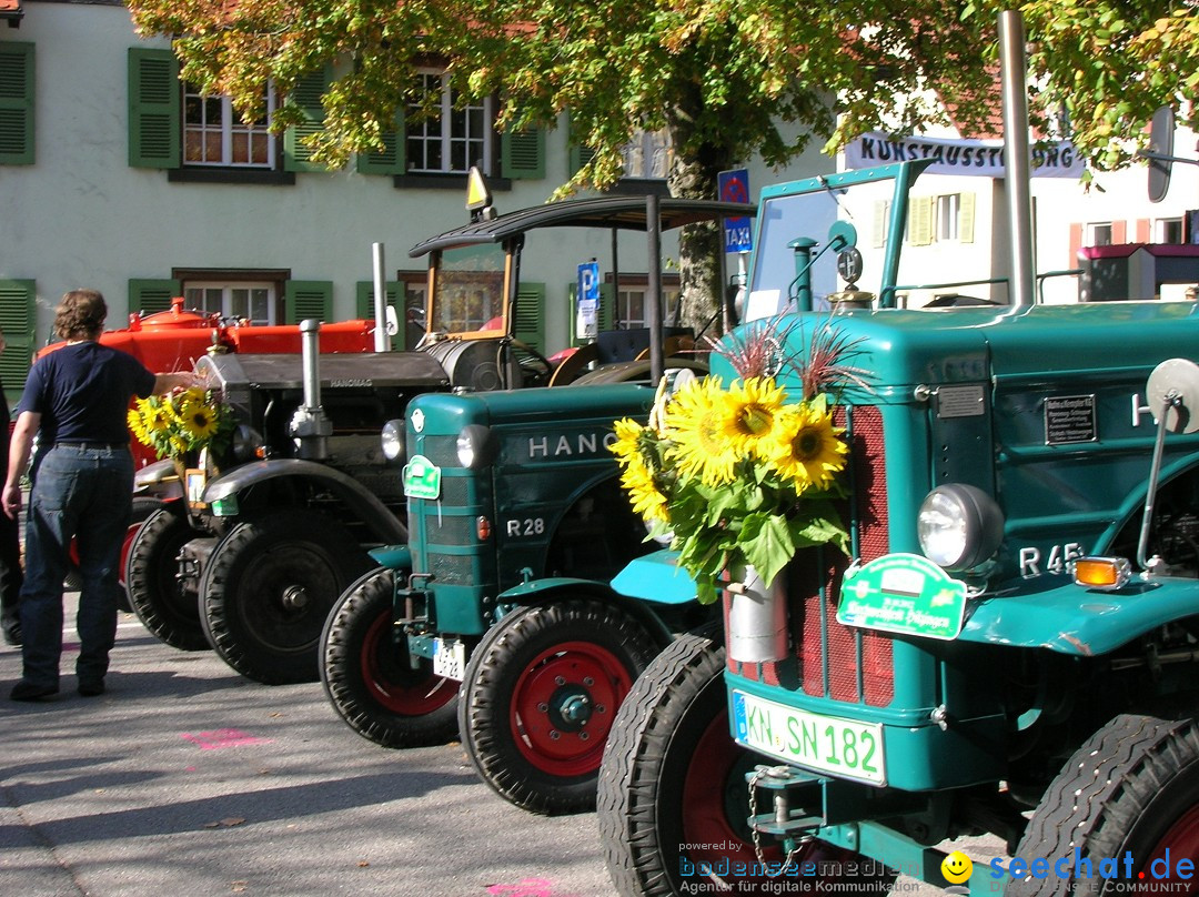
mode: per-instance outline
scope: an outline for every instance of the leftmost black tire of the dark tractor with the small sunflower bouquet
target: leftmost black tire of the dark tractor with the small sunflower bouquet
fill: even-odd
[[[151,513],[129,543],[125,582],[141,625],[163,644],[181,651],[206,651],[199,600],[179,578],[179,552],[195,537],[177,501]]]

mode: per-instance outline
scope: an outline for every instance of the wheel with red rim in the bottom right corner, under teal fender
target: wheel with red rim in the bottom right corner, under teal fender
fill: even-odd
[[[1090,878],[1073,878],[1076,848],[1091,860]],[[1162,861],[1167,849],[1168,867]],[[1137,893],[1192,893],[1194,879],[1183,881],[1173,872],[1177,859],[1199,855],[1199,727],[1192,720],[1127,714],[1111,720],[1049,785],[1016,855],[1047,857],[1049,873],[1010,881],[1007,895],[1109,895],[1129,886]],[[1133,857],[1131,880],[1123,878],[1126,855]],[[1054,869],[1064,856],[1070,857],[1068,880]],[[1122,878],[1099,874],[1104,857],[1119,860]],[[1155,878],[1155,860],[1171,877]]]

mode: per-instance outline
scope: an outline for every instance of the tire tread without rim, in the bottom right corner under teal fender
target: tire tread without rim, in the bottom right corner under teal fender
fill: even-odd
[[[1022,857],[1114,857],[1128,830],[1182,769],[1199,764],[1193,721],[1122,714],[1089,738],[1054,778],[1020,839]],[[1005,889],[1014,897],[1052,897],[1065,883],[1031,875]],[[1071,879],[1072,893],[1101,893],[1103,880]]]

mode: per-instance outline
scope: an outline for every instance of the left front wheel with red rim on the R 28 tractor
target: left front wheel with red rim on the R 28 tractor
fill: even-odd
[[[458,682],[414,669],[392,638],[396,574],[373,570],[347,589],[320,637],[320,681],[342,718],[384,747],[442,745],[458,729]]]

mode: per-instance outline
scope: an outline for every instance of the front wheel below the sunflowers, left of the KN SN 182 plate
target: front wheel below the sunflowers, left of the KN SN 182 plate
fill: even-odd
[[[600,772],[598,824],[608,874],[625,897],[706,890],[712,881],[703,869],[725,863],[761,868],[746,825],[746,773],[766,760],[729,734],[724,648],[712,637],[716,628],[681,636],[659,654],[616,715]],[[685,853],[683,844],[723,848]],[[764,859],[784,857],[764,847]],[[894,880],[890,869],[820,841],[794,860],[818,868],[831,861],[838,873],[854,869],[854,890],[861,893],[879,893]],[[777,893],[772,884],[778,883],[729,880],[739,895]]]

